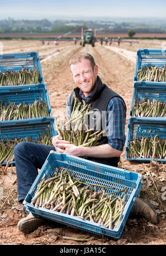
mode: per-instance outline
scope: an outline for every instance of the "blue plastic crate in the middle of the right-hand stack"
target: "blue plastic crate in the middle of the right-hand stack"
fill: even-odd
[[[132,116],[132,109],[135,100],[144,100],[146,97],[150,100],[163,101],[166,104],[166,83],[161,82],[134,82],[131,110],[130,115]]]

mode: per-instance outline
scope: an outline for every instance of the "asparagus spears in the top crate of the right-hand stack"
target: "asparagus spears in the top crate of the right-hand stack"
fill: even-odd
[[[137,71],[137,81],[166,82],[165,66],[148,66],[142,67]]]

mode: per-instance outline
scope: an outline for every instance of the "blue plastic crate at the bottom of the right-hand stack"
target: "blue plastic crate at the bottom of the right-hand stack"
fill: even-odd
[[[129,117],[128,126],[127,126],[127,136],[126,136],[126,147],[125,147],[125,159],[127,161],[136,161],[141,163],[150,163],[151,158],[129,158],[128,157],[128,149],[129,149],[129,141],[134,137],[141,138],[143,135],[147,137],[149,135],[149,131],[152,132],[152,136],[159,135],[161,139],[165,139],[166,137],[166,119],[159,117]],[[166,159],[154,159],[158,162],[166,163]]]

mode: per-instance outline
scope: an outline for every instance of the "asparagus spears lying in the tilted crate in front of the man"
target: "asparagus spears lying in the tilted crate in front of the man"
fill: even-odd
[[[53,177],[40,180],[31,203],[37,208],[59,211],[113,229],[122,219],[127,188],[111,193],[105,193],[105,188],[86,184],[70,175],[68,168],[57,167]],[[118,193],[122,196],[113,195]]]

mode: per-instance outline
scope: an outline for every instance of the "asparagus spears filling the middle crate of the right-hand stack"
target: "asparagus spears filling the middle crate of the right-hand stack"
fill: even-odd
[[[163,101],[134,100],[132,116],[136,117],[166,117],[166,105]]]

